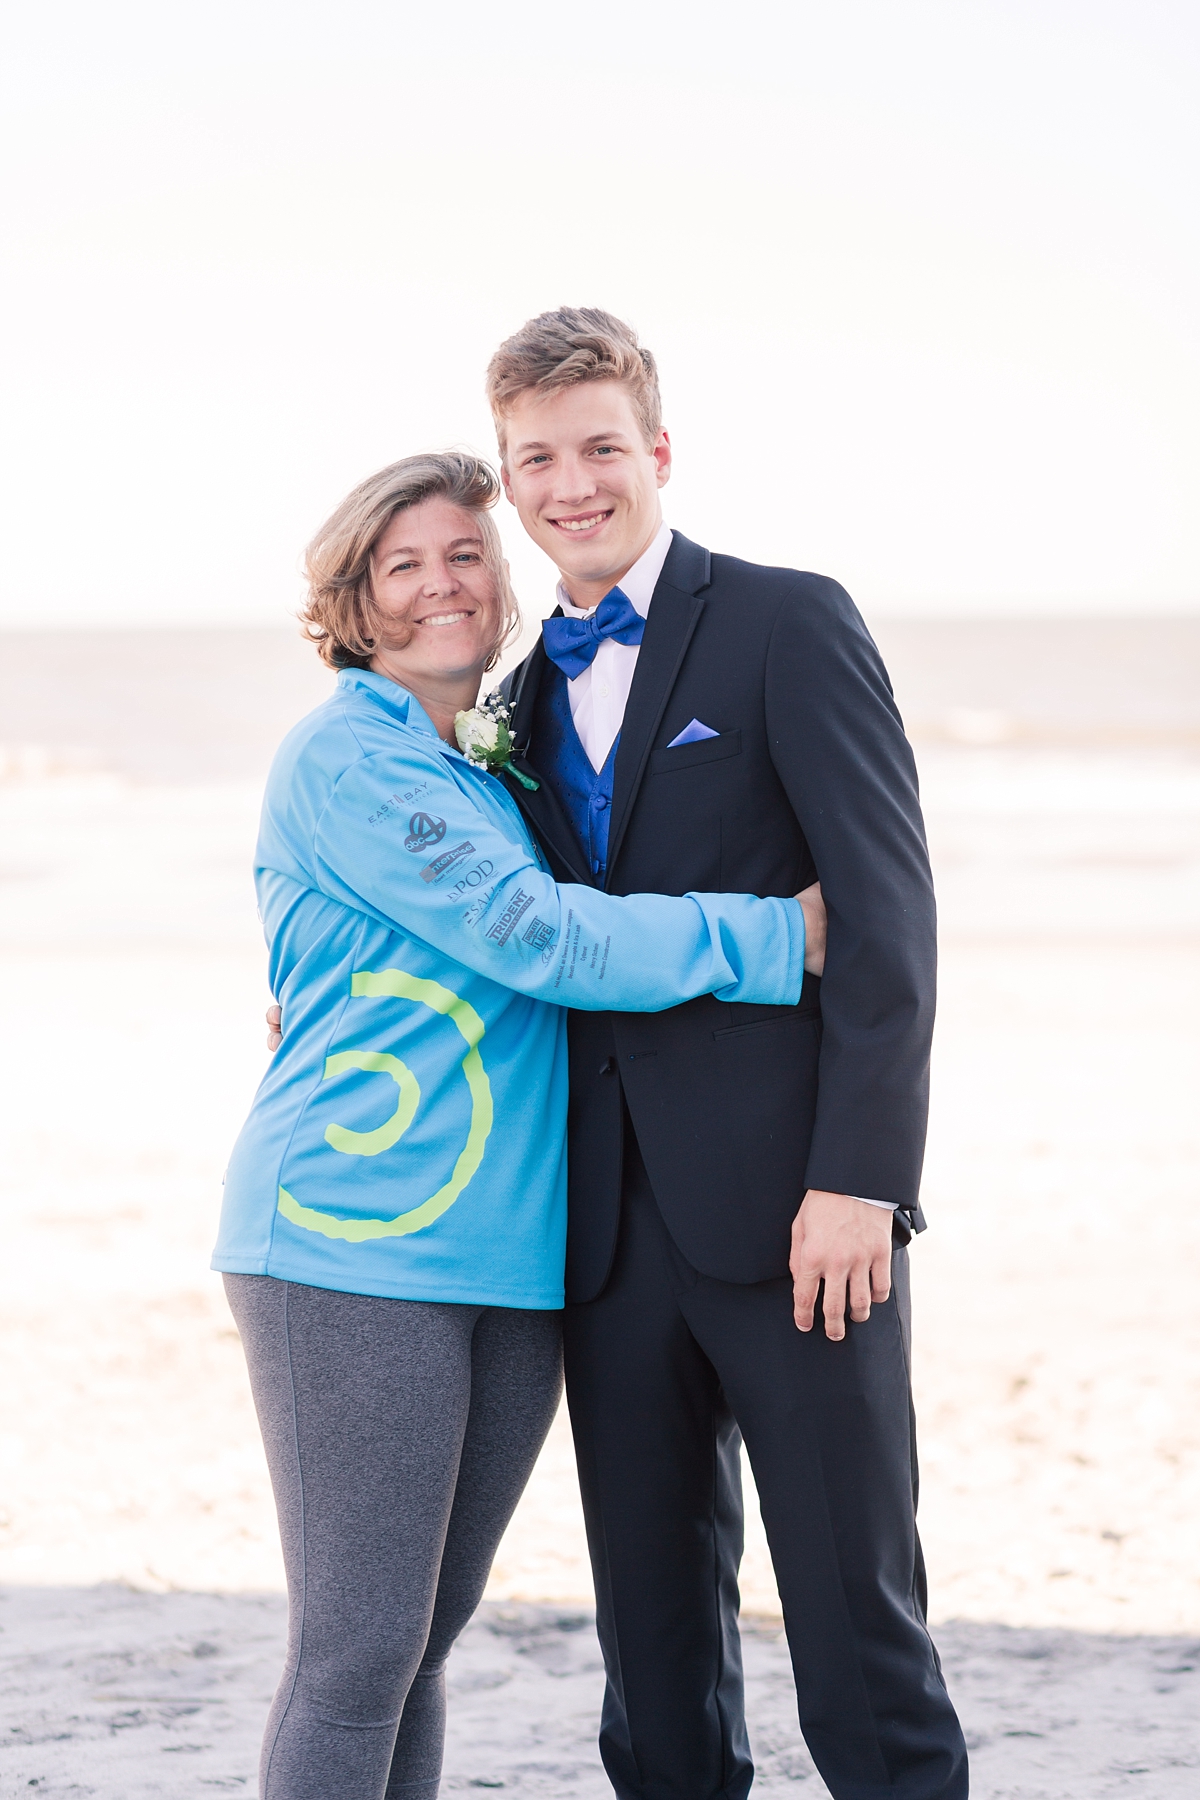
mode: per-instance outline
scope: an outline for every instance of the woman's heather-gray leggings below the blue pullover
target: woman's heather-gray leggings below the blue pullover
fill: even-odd
[[[561,1314],[227,1274],[288,1571],[263,1800],[434,1800],[444,1665],[561,1390]]]

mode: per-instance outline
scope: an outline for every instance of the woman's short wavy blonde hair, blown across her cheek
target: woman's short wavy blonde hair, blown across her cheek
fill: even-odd
[[[396,513],[435,495],[479,515],[484,558],[497,585],[497,635],[486,666],[493,668],[498,661],[520,625],[509,565],[491,517],[500,482],[482,457],[466,450],[428,450],[389,463],[360,481],[304,551],[308,601],[300,619],[304,635],[317,644],[329,668],[371,666],[381,623],[371,583],[372,551]]]

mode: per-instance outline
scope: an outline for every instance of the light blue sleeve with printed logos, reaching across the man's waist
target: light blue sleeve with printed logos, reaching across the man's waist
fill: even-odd
[[[506,832],[444,758],[376,752],[336,781],[315,832],[324,893],[534,999],[660,1012],[700,994],[793,1004],[804,979],[795,900],[631,895],[558,886],[513,810]],[[425,787],[428,830],[396,796]],[[480,796],[482,799],[482,796]],[[511,801],[504,801],[511,806]]]

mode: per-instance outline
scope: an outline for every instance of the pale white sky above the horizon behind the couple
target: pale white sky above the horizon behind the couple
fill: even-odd
[[[655,349],[712,549],[869,617],[1200,610],[1195,0],[23,14],[0,623],[284,623],[561,302]]]

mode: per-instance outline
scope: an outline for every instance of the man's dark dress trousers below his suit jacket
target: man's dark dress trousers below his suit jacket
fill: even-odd
[[[743,1800],[739,1444],[770,1543],[801,1728],[835,1800],[964,1800],[966,1746],[925,1627],[907,1251],[831,1343],[792,1283],[698,1274],[626,1118],[608,1285],[567,1307],[567,1397],[619,1800]]]

